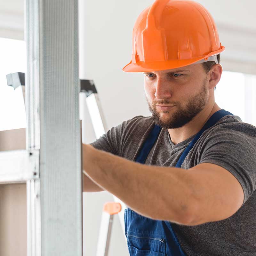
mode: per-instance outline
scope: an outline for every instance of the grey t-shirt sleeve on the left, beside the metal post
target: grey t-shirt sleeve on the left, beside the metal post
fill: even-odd
[[[123,123],[112,127],[108,132],[103,134],[99,139],[90,143],[94,148],[100,149],[111,154],[122,156],[122,148],[124,140],[129,133],[130,127],[136,123],[141,116],[135,116],[132,119],[124,121]]]

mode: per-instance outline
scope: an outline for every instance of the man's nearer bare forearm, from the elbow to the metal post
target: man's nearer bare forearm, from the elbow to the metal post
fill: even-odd
[[[83,170],[146,217],[184,224],[193,204],[186,170],[135,163],[83,144]]]

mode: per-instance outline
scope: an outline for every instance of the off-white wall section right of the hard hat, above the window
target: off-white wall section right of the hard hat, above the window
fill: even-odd
[[[198,0],[217,23],[220,42],[226,47],[221,53],[224,70],[256,74],[256,2]]]

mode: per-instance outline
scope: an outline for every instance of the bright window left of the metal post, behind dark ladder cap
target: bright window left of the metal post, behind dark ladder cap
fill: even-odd
[[[0,131],[27,126],[22,88],[7,86],[6,75],[26,72],[25,41],[0,38]]]

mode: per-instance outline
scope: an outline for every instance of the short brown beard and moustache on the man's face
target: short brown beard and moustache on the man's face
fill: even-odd
[[[146,99],[148,102],[148,99]],[[191,97],[188,100],[188,103],[184,108],[180,106],[178,102],[172,102],[171,105],[176,105],[174,108],[178,108],[171,116],[163,120],[161,118],[161,115],[156,110],[156,104],[170,104],[168,101],[158,101],[151,105],[148,102],[148,108],[149,111],[152,113],[152,119],[154,120],[155,124],[167,128],[167,129],[175,129],[180,128],[184,126],[185,124],[188,124],[200,111],[202,111],[205,107],[205,105],[208,102],[208,90],[206,88],[206,81],[204,81],[204,84],[196,95]],[[163,113],[169,113],[169,111],[162,111]]]

